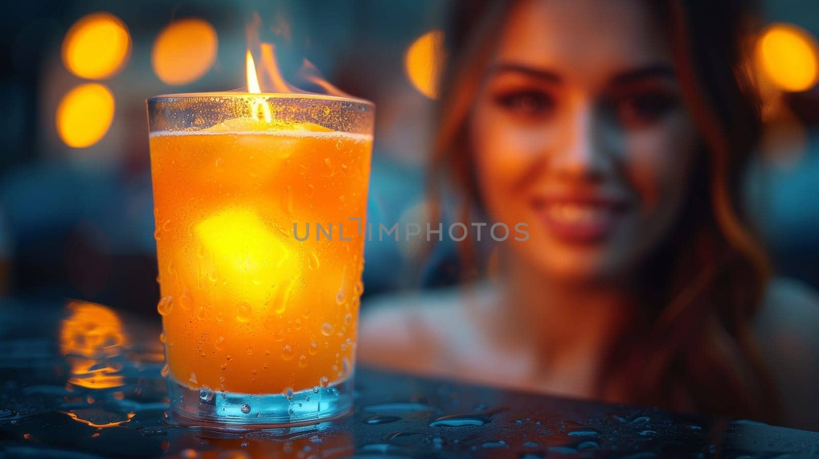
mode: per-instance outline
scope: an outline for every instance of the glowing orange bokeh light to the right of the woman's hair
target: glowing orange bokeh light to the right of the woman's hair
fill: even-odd
[[[771,25],[757,43],[762,71],[778,88],[805,91],[817,83],[816,39],[795,25]]]

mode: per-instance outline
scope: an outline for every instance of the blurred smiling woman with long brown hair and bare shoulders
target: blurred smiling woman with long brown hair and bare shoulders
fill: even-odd
[[[740,206],[747,5],[458,2],[433,183],[529,237],[491,282],[371,308],[361,362],[819,429],[819,306]]]

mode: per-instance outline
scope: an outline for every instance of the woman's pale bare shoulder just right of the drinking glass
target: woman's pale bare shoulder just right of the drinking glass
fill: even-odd
[[[364,364],[419,373],[440,373],[468,341],[462,288],[382,295],[364,302],[358,358]]]

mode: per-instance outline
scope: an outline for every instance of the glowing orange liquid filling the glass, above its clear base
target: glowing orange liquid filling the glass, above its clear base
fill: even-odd
[[[247,394],[333,385],[355,364],[372,138],[252,129],[151,137],[170,376]]]

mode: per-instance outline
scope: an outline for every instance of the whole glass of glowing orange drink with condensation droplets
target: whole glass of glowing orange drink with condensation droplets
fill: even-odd
[[[373,104],[225,92],[147,106],[171,418],[349,411]]]

